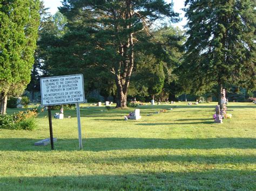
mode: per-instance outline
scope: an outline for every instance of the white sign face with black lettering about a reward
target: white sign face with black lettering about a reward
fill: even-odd
[[[40,84],[42,105],[83,103],[85,101],[83,74],[42,77]]]

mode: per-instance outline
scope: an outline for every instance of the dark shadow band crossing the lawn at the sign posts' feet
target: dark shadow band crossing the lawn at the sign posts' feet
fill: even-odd
[[[0,151],[49,151],[48,146],[34,146],[38,139],[3,138]],[[131,149],[215,149],[256,148],[255,138],[204,138],[204,139],[158,139],[158,138],[87,138],[83,139],[84,151],[111,151]],[[78,149],[78,139],[58,139],[58,151]]]

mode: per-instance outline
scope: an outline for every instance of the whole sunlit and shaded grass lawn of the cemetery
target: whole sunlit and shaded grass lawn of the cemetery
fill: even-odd
[[[134,108],[80,104],[82,151],[76,110],[53,118],[54,151],[34,146],[49,137],[42,112],[35,131],[0,129],[0,190],[255,190],[256,105],[229,103],[232,118],[214,124],[216,104],[142,105],[138,121],[124,121]]]

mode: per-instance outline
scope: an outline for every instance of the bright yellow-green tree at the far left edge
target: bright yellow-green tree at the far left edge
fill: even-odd
[[[39,25],[39,0],[0,1],[1,114],[8,96],[23,93],[30,82]]]

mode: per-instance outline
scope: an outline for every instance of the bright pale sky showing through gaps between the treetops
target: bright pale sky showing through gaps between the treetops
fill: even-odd
[[[184,17],[184,11],[181,9],[184,8],[185,0],[173,0],[174,6],[173,9],[175,12],[180,13],[181,22],[173,24],[173,26],[179,26],[181,29],[186,24],[186,18]],[[171,2],[171,0],[166,0],[166,2]],[[44,0],[45,8],[50,8],[49,12],[53,15],[58,11],[58,6],[62,6],[61,0]]]

